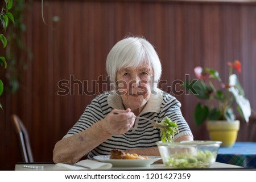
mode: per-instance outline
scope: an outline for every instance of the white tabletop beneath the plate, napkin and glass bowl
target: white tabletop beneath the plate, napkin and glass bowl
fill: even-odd
[[[46,170],[46,171],[63,171],[63,170],[68,170],[67,168],[64,167],[59,167],[55,166],[53,163],[34,163],[34,164],[26,164],[26,165],[36,165],[36,166],[44,166],[43,169],[31,169],[31,168],[24,168],[24,164],[16,164],[15,165],[15,171],[35,171],[35,170]],[[219,162],[214,162],[209,168],[203,168],[204,170],[221,170],[221,169],[242,169],[243,167],[241,166],[234,166],[231,164],[225,164],[225,163],[219,163]],[[84,170],[89,170],[89,169],[84,169]],[[154,163],[151,164],[150,166],[145,166],[145,167],[112,167],[108,170],[176,170],[174,168],[167,168],[164,166],[163,163]],[[198,168],[200,170],[200,168]],[[101,170],[102,171],[102,170]]]

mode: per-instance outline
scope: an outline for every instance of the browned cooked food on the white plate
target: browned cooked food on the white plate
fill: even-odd
[[[110,153],[110,159],[148,159],[147,156],[141,156],[138,154],[126,154],[119,149],[113,149],[110,151]]]

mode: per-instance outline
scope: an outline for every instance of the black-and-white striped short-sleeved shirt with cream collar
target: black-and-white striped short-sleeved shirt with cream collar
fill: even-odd
[[[150,99],[148,99],[139,116],[149,118],[155,122],[160,122],[164,117],[169,117],[173,122],[176,122],[179,129],[179,133],[175,134],[174,139],[187,135],[193,137],[191,129],[181,114],[180,102],[174,96],[158,88],[156,89],[156,92],[150,95]],[[112,94],[105,92],[98,95],[86,107],[79,121],[68,131],[64,138],[88,129],[97,121],[106,117],[113,109],[125,109],[120,95],[113,94],[113,92]],[[101,143],[89,152],[88,159],[92,159],[94,155],[110,155],[112,149],[127,150],[155,147],[157,141],[160,141],[159,129],[154,128],[147,120],[137,118],[134,127],[125,134],[112,136]]]

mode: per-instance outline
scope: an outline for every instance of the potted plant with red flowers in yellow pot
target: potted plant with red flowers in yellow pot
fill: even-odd
[[[222,81],[217,70],[201,66],[194,69],[197,80],[184,83],[185,89],[188,89],[189,84],[193,82],[189,91],[203,101],[197,103],[193,120],[197,126],[207,121],[210,138],[222,141],[222,147],[233,146],[237,139],[240,121],[236,120],[234,104],[237,105],[238,113],[246,122],[251,115],[250,102],[245,97],[237,75],[233,73],[234,70],[241,72],[241,62],[236,60],[228,62],[228,65],[228,83]]]

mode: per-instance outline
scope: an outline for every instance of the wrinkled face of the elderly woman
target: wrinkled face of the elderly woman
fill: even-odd
[[[117,88],[125,108],[140,113],[151,94],[151,66],[124,67],[117,72]],[[137,110],[138,109],[138,110]]]

